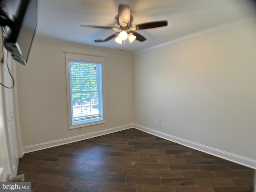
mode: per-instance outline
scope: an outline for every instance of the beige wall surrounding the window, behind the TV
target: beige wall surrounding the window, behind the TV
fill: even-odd
[[[64,51],[105,57],[106,123],[68,130]],[[132,55],[36,38],[28,66],[17,64],[23,147],[132,124]],[[39,147],[40,148],[40,147]]]

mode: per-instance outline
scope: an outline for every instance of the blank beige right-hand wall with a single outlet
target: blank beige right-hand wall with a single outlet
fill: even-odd
[[[256,162],[255,72],[255,21],[140,52],[134,124]]]

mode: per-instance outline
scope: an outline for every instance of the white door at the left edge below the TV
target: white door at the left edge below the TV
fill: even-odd
[[[0,37],[0,45],[2,45],[2,37]],[[9,76],[6,62],[10,67],[10,72],[12,72],[13,60],[5,49],[0,51],[1,58],[2,53],[4,53],[4,64],[0,65],[0,82],[9,87],[12,86],[12,78]],[[0,181],[6,180],[6,174],[16,176],[20,157],[16,135],[13,91],[13,89],[0,87]]]

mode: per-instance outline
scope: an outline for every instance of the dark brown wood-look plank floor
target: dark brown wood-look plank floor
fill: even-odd
[[[252,192],[254,170],[134,128],[24,154],[32,192]]]

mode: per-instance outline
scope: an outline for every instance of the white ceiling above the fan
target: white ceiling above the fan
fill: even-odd
[[[38,0],[36,35],[120,50],[114,38],[94,43],[94,39],[105,39],[114,31],[80,27],[116,27],[114,17],[120,3],[130,5],[133,24],[168,20],[168,26],[137,30],[147,40],[132,44],[126,41],[126,50],[130,52],[255,14],[254,4],[249,0]]]

